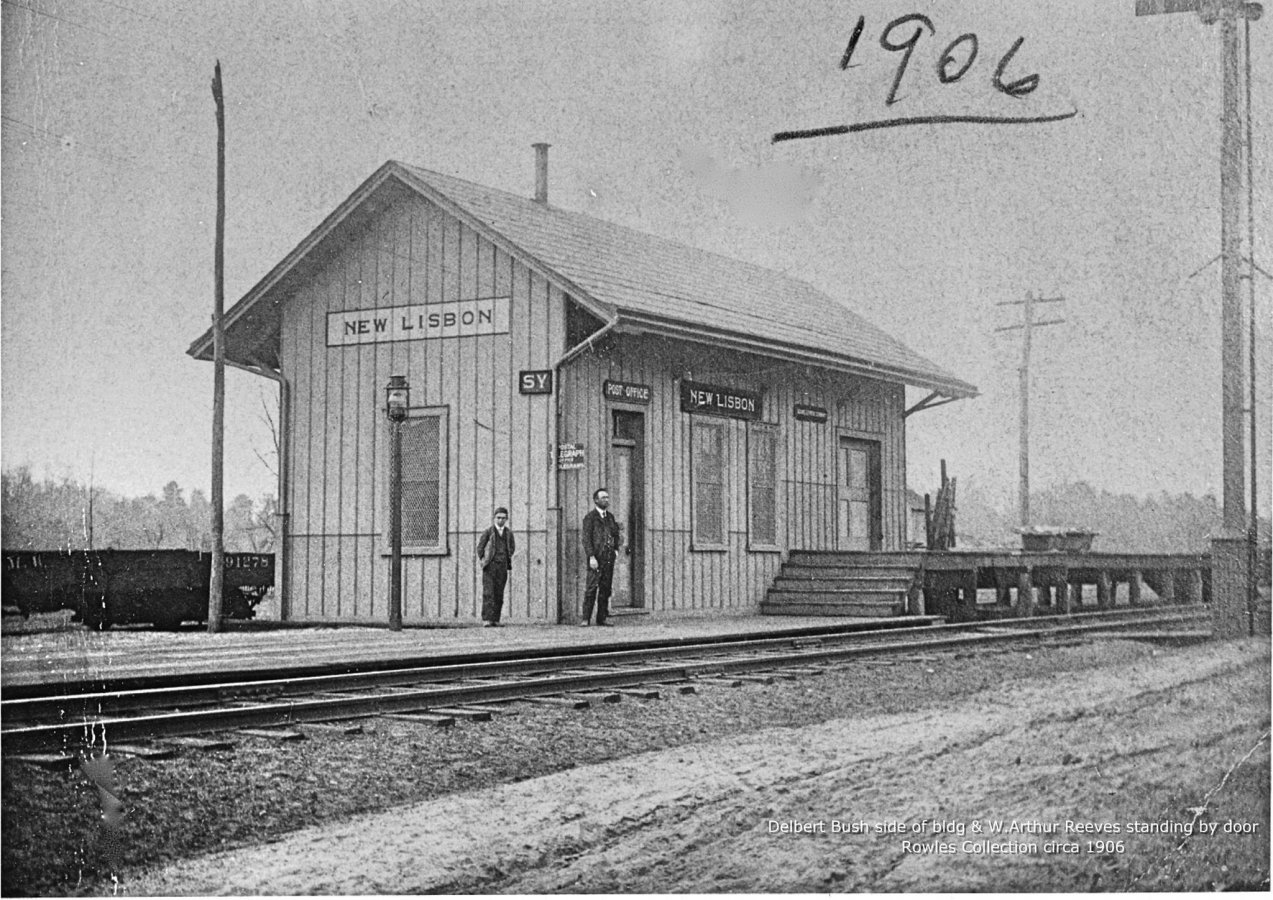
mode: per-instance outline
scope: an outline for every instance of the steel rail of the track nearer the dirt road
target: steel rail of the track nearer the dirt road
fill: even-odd
[[[1142,617],[1137,622],[1096,621],[1096,622],[1040,622],[1032,620],[1035,628],[1006,628],[993,633],[965,631],[947,634],[922,640],[882,640],[867,644],[843,645],[805,645],[789,648],[785,652],[749,652],[742,656],[719,656],[696,661],[681,661],[649,666],[616,666],[597,670],[605,661],[598,654],[584,654],[574,658],[559,658],[578,668],[587,666],[584,672],[540,675],[519,681],[479,681],[476,675],[465,681],[440,684],[429,687],[396,689],[392,693],[348,694],[344,696],[322,696],[292,699],[281,703],[239,704],[213,709],[174,710],[143,715],[85,715],[37,724],[5,724],[3,737],[5,752],[22,752],[48,749],[106,749],[108,743],[121,741],[154,740],[178,735],[196,735],[219,731],[233,731],[246,727],[278,727],[307,722],[328,722],[336,719],[365,718],[388,713],[428,712],[444,707],[465,707],[471,704],[503,703],[531,698],[577,694],[601,689],[638,687],[649,684],[685,681],[704,675],[760,672],[780,670],[784,666],[808,663],[844,662],[858,658],[871,658],[915,649],[957,648],[1003,644],[1021,640],[1046,640],[1049,638],[1090,636],[1109,631],[1111,628],[1161,624],[1162,621],[1189,621],[1195,616],[1178,614],[1171,616]],[[738,649],[751,648],[735,648]],[[608,656],[608,654],[602,654]],[[633,661],[626,661],[631,663]],[[565,664],[563,664],[563,668]],[[507,673],[504,673],[507,675]],[[488,677],[495,676],[488,670]],[[498,676],[496,676],[498,677]],[[317,689],[312,689],[317,690]],[[328,691],[322,691],[328,694]]]

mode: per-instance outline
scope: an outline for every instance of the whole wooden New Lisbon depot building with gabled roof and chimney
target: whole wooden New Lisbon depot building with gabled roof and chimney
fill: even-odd
[[[612,606],[759,608],[792,550],[904,550],[905,386],[976,390],[810,285],[388,162],[225,316],[280,383],[281,615],[386,622],[391,376],[407,624],[477,621],[508,507],[505,621],[574,622],[606,486]],[[190,348],[211,359],[211,331]]]

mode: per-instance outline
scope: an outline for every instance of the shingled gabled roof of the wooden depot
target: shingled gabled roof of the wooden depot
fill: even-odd
[[[976,388],[797,279],[428,169],[386,163],[227,313],[230,348],[265,350],[280,288],[388,181],[439,204],[555,281],[617,331],[710,341],[970,397]],[[278,322],[272,323],[278,344]],[[257,341],[237,330],[253,328]],[[276,350],[274,364],[276,365]],[[190,354],[211,358],[211,331]],[[270,365],[269,354],[244,364]]]

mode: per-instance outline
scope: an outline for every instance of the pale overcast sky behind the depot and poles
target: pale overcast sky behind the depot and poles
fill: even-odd
[[[936,34],[890,104],[904,53],[881,34],[910,13]],[[1253,27],[1265,271],[1270,28]],[[938,57],[965,33],[976,59],[942,84]],[[1020,321],[998,304],[1035,292],[1064,297],[1045,313],[1067,320],[1034,344],[1035,488],[1220,495],[1220,34],[1194,14],[1138,19],[1133,0],[3,0],[3,38],[5,467],[125,494],[209,489],[213,369],[185,350],[213,304],[220,59],[228,303],[386,159],[530,195],[542,140],[552,204],[784,270],[975,383],[980,397],[909,419],[918,490],[936,490],[945,457],[1015,507],[1021,332],[994,328]],[[1017,38],[1002,80],[1037,88],[1009,97],[993,79]],[[1265,488],[1270,288],[1258,278]],[[272,491],[257,458],[272,383],[228,383],[227,495]]]

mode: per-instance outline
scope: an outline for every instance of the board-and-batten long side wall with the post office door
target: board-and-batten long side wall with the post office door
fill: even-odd
[[[740,370],[755,374],[736,374]],[[681,411],[679,377],[761,392],[763,423],[778,430],[777,550],[749,544],[747,421]],[[610,402],[602,383],[648,384],[648,405]],[[644,606],[653,612],[710,615],[755,610],[785,552],[835,549],[836,466],[841,435],[880,443],[882,549],[905,547],[905,390],[849,374],[810,370],[743,354],[656,337],[619,336],[560,373],[561,433],[584,446],[584,466],[560,472],[564,619],[583,605],[580,524],[597,486],[611,486],[612,410],[644,414]],[[822,406],[826,423],[797,420],[796,404]],[[690,481],[695,420],[726,426],[726,546],[693,547]],[[611,486],[612,490],[612,486]],[[612,498],[612,509],[626,498]]]

